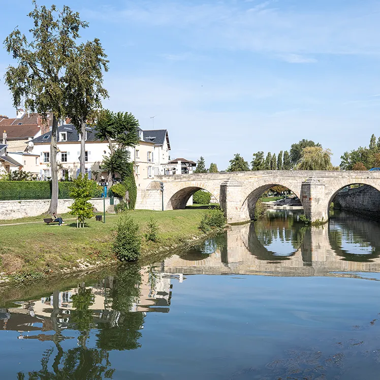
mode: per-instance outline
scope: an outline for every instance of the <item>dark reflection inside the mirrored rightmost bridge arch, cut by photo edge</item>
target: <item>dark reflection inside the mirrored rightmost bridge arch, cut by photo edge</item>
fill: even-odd
[[[378,222],[343,211],[335,211],[330,217],[328,226],[330,245],[342,258],[341,260],[372,262],[380,256]],[[350,252],[343,248],[344,243],[368,248],[368,253]]]

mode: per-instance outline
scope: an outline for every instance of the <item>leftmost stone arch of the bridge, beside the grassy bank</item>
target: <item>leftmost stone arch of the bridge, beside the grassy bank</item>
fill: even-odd
[[[219,203],[220,190],[200,181],[186,181],[165,184],[164,205],[166,210],[184,209],[190,197],[198,190],[205,190]]]

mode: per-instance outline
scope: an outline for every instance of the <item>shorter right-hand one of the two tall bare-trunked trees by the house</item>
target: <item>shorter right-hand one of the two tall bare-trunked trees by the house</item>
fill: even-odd
[[[86,123],[94,119],[94,111],[108,98],[103,87],[103,72],[108,71],[107,55],[99,39],[79,45],[69,62],[67,76],[71,78],[66,91],[67,116],[80,134],[80,172],[85,174]]]

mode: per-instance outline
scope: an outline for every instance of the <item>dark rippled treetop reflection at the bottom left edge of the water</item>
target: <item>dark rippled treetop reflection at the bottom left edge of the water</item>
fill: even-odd
[[[67,352],[58,351],[54,358],[52,370],[49,370],[49,360],[53,349],[45,351],[41,360],[40,371],[28,372],[25,377],[23,372],[17,374],[18,380],[101,380],[112,378],[114,369],[110,368],[108,353],[103,350],[84,349],[76,347]],[[58,367],[59,366],[59,367]]]

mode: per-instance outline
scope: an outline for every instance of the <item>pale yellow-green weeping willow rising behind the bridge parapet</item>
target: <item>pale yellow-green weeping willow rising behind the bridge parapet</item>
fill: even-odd
[[[331,164],[331,150],[308,146],[302,150],[297,170],[336,170]]]

